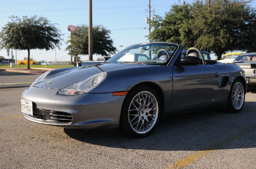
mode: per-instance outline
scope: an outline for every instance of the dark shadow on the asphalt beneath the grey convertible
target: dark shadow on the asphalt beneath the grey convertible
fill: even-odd
[[[68,128],[64,128],[64,132],[71,138],[81,142],[119,149],[198,151],[209,149],[207,147],[214,144],[218,145],[229,137],[235,136],[236,138],[239,133],[243,133],[243,130],[247,130],[248,127],[253,126],[252,131],[255,132],[256,113],[253,113],[255,108],[255,102],[245,102],[244,108],[240,113],[205,110],[174,116],[160,121],[151,135],[140,139],[129,138],[121,132],[87,132]],[[244,135],[231,140],[231,142],[234,143],[236,140],[245,139],[243,138]],[[247,144],[231,144],[231,147],[230,144],[228,145],[232,149],[256,147],[255,138],[247,138],[246,141]],[[217,146],[213,149],[225,149],[225,145]]]

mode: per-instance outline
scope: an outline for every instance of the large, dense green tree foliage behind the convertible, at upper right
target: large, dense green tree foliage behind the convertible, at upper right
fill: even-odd
[[[165,17],[154,16],[153,41],[197,47],[221,59],[227,51],[256,51],[256,9],[247,0],[195,0],[175,4]]]

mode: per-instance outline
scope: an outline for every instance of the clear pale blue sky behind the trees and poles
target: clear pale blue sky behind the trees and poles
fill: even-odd
[[[175,3],[179,1],[151,0],[153,14],[164,16]],[[256,0],[252,1],[251,6],[256,7]],[[61,49],[56,49],[57,60],[70,60],[68,52],[64,51],[70,36],[67,25],[88,25],[88,0],[0,0],[0,7],[0,29],[10,21],[11,15],[38,15],[46,17],[51,23],[57,23],[56,27],[64,34]],[[148,0],[93,0],[93,25],[103,25],[111,30],[114,46],[120,50],[128,45],[148,42],[145,37],[148,35],[148,24],[145,23],[147,10]],[[55,60],[55,50],[32,50],[30,54],[38,61]],[[15,51],[13,55],[15,56]],[[0,51],[0,56],[8,59],[6,49]],[[17,59],[23,57],[27,57],[27,51],[17,51]],[[96,57],[94,56],[94,59]],[[88,56],[81,56],[82,60],[87,58]]]

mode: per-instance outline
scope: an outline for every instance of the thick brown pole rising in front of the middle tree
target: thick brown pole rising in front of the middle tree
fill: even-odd
[[[89,31],[88,31],[88,55],[93,60],[93,2],[89,0]]]

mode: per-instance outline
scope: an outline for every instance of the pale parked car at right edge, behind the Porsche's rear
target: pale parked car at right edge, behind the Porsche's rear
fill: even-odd
[[[247,85],[256,86],[256,53],[242,54],[233,63],[244,70]]]

